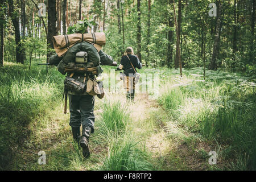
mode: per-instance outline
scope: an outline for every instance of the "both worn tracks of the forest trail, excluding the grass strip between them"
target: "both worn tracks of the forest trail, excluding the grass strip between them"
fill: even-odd
[[[122,104],[125,99],[119,96]],[[125,97],[124,97],[125,98]],[[63,114],[63,105],[47,113],[46,118],[38,118],[39,131],[32,140],[26,141],[22,159],[18,160],[19,170],[98,170],[108,156],[108,144],[101,142],[98,134],[100,122],[100,100],[95,106],[95,133],[90,137],[89,159],[82,157],[81,148],[72,140],[69,126],[69,112]],[[180,129],[166,111],[147,94],[136,94],[135,103],[129,106],[133,127],[130,129],[140,139],[149,152],[150,161],[159,170],[199,170],[205,169],[202,160],[191,154],[191,148],[183,141],[188,134]],[[173,137],[175,136],[175,137]],[[46,152],[47,164],[37,163],[39,151]],[[205,161],[203,161],[205,163]]]

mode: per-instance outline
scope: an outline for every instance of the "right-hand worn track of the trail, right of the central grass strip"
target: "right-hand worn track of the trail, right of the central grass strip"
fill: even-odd
[[[162,170],[205,170],[209,169],[208,144],[189,141],[190,134],[177,126],[173,118],[155,100],[141,94],[138,102],[143,103],[146,117],[142,122],[154,123],[154,132],[146,137],[146,146],[155,163]]]

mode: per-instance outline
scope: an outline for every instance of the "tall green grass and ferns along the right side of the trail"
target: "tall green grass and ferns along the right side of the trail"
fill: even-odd
[[[230,146],[227,169],[256,169],[255,84],[236,74],[208,75],[162,94],[160,105],[189,132]]]

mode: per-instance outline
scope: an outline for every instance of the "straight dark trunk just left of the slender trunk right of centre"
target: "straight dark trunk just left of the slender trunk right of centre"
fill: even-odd
[[[168,0],[168,4],[171,6],[172,2],[171,0]],[[174,31],[172,31],[170,28],[174,27],[174,21],[172,20],[172,16],[168,15],[168,52],[167,52],[167,66],[168,68],[171,68],[171,63],[172,63],[172,52],[173,52],[173,47],[172,47],[172,41],[174,37]]]

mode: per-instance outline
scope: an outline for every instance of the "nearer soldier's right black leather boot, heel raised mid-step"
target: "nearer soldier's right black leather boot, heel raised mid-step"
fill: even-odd
[[[80,146],[82,147],[82,155],[84,155],[85,158],[89,158],[90,156],[89,137],[91,132],[92,128],[90,126],[82,126],[82,137]]]

